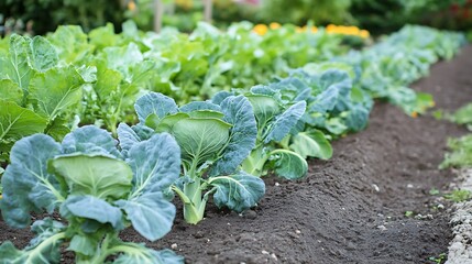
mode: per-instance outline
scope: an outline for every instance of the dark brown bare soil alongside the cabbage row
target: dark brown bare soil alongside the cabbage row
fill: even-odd
[[[431,92],[438,108],[454,110],[472,101],[471,69],[468,46],[414,87]],[[333,158],[309,161],[307,178],[267,178],[259,207],[242,216],[209,206],[207,219],[189,226],[179,215],[165,239],[147,245],[174,244],[188,263],[432,263],[451,234],[446,210],[429,191],[452,180],[438,164],[446,138],[463,133],[377,103],[365,131],[334,142]],[[28,231],[0,222],[0,241],[24,245],[26,239]],[[123,239],[145,242],[133,231]]]

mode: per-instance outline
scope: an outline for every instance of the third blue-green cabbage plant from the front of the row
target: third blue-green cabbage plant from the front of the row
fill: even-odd
[[[218,103],[227,96],[231,96],[231,94],[217,94],[212,101]],[[244,96],[254,109],[257,134],[255,147],[242,163],[242,169],[256,176],[265,175],[270,169],[288,179],[305,176],[308,170],[305,157],[281,147],[277,143],[282,142],[295,128],[305,112],[306,102],[301,100],[295,103],[284,103],[281,95],[270,86],[253,87]]]

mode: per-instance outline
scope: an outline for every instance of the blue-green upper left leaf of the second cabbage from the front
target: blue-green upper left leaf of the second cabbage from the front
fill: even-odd
[[[169,113],[178,111],[174,99],[158,92],[150,92],[142,96],[134,105],[134,109],[141,123],[144,123],[151,113],[155,113],[162,119]]]

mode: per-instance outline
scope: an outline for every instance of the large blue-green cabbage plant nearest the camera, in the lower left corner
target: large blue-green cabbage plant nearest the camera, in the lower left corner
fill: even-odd
[[[95,127],[67,134],[62,144],[45,134],[18,141],[2,177],[3,220],[14,228],[31,223],[30,211],[58,211],[32,224],[36,237],[24,250],[7,241],[2,263],[59,263],[61,249],[77,263],[182,263],[169,250],[155,251],[119,239],[132,226],[154,241],[171,231],[175,207],[163,190],[178,177],[179,148],[166,133],[127,150]]]

